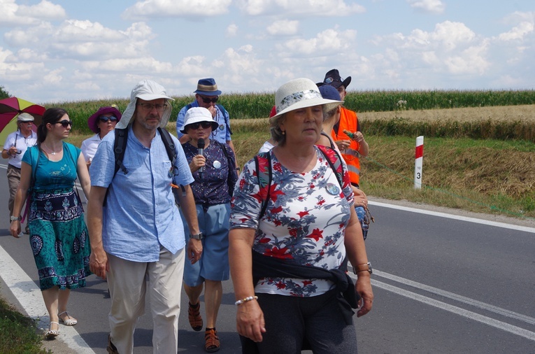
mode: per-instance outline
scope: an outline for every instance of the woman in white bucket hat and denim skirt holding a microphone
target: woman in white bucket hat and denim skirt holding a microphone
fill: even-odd
[[[209,353],[220,348],[215,330],[217,312],[221,304],[222,281],[229,279],[229,218],[230,199],[238,180],[236,160],[230,146],[210,140],[217,122],[208,109],[192,107],[185,114],[180,132],[188,134],[190,141],[182,147],[190,164],[194,182],[191,184],[201,234],[185,234],[202,243],[201,259],[194,264],[186,262],[184,288],[188,299],[188,319],[195,331],[203,327],[199,297],[204,290],[206,306],[205,349]],[[182,212],[180,212],[182,215]],[[187,225],[187,223],[184,223]],[[188,241],[188,240],[186,240]]]

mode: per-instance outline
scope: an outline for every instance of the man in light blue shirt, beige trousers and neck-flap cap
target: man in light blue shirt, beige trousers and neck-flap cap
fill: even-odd
[[[140,81],[115,127],[115,131],[128,132],[124,171],[120,169],[114,175],[115,134],[104,136],[90,169],[90,269],[108,279],[108,353],[133,352],[134,330],[144,313],[145,295],[150,298],[154,322],[153,352],[178,351],[185,257],[192,263],[199,260],[202,234],[190,187],[194,179],[184,151],[178,139],[172,137],[176,153],[172,164],[157,130],[169,121],[171,100],[162,85]],[[187,245],[171,183],[184,187],[178,196],[192,233]]]

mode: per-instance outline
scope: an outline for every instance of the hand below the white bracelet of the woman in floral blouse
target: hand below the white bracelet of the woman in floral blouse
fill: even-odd
[[[252,341],[262,341],[262,333],[266,333],[266,323],[264,322],[264,313],[257,300],[250,300],[238,305],[236,330],[238,330],[238,334]]]

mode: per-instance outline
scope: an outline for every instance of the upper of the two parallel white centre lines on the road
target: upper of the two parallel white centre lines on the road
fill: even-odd
[[[417,283],[415,281],[410,281],[406,278],[394,276],[393,274],[388,274],[383,271],[378,271],[376,269],[373,269],[373,275],[377,275],[382,278],[387,278],[387,279],[390,279],[391,281],[397,281],[398,283],[409,285],[413,288],[417,288],[420,290],[425,290],[427,292],[431,292],[433,294],[440,295],[442,297],[447,297],[448,299],[453,299],[455,301],[462,302],[464,304],[469,304],[471,306],[478,307],[479,309],[494,312],[501,316],[506,316],[508,318],[513,318],[515,320],[520,320],[522,322],[529,323],[530,325],[535,325],[535,318],[522,315],[522,313],[517,313],[517,312],[509,311],[506,309],[502,309],[501,307],[498,307],[498,306],[486,304],[485,302],[479,302],[477,300],[470,299],[469,297],[464,297],[462,295],[454,294],[453,292],[448,292],[445,290],[433,288],[429,285]]]

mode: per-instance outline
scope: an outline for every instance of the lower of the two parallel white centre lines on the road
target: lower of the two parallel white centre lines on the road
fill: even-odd
[[[527,338],[529,340],[535,341],[535,332],[525,330],[523,328],[509,325],[508,323],[494,320],[494,318],[490,318],[487,316],[480,315],[479,313],[475,313],[472,311],[467,311],[465,309],[461,309],[457,306],[452,306],[450,304],[445,304],[443,302],[439,302],[438,300],[431,299],[429,297],[425,297],[423,295],[416,294],[415,292],[410,292],[401,288],[397,288],[395,286],[382,283],[380,281],[376,281],[375,279],[371,280],[371,284],[373,286],[376,286],[377,288],[385,289],[390,292],[394,292],[397,295],[401,295],[404,297],[408,297],[409,299],[416,300],[418,302],[422,302],[424,304],[437,307],[438,309],[443,309],[445,311],[449,311],[451,313],[455,313],[459,316],[463,316],[466,318],[469,318],[470,320],[476,320],[480,323],[484,323],[485,325],[490,325],[492,327],[496,327],[499,330],[503,330],[512,334],[516,334],[520,337]]]

